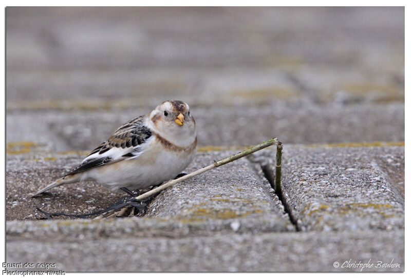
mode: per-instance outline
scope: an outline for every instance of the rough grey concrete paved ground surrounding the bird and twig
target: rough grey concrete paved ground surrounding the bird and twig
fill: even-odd
[[[7,263],[404,271],[404,18],[403,7],[7,7]],[[167,99],[196,120],[186,172],[278,137],[282,194],[270,147],[161,192],[139,217],[38,220],[36,207],[83,213],[124,196],[83,182],[28,198]]]

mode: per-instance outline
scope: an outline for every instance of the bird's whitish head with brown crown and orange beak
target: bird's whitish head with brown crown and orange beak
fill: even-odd
[[[196,124],[188,104],[166,101],[150,113],[151,128],[171,143],[184,147],[193,143]]]

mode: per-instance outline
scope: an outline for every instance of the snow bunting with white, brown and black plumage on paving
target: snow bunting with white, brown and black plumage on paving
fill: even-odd
[[[142,189],[171,180],[194,159],[196,124],[182,101],[165,101],[150,114],[128,121],[53,187],[96,181],[112,191]]]

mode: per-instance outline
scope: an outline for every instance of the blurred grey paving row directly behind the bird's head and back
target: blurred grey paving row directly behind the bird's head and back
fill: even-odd
[[[131,118],[153,107],[110,111],[19,111],[6,117],[6,141],[49,144],[51,150],[92,150]],[[404,141],[404,104],[320,106],[193,106],[199,146]],[[270,119],[269,121],[267,119]],[[26,132],[30,128],[31,132]]]

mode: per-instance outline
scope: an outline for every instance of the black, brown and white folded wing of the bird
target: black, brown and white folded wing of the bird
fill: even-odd
[[[152,138],[152,132],[143,120],[144,116],[140,116],[125,123],[67,175],[138,157]]]

